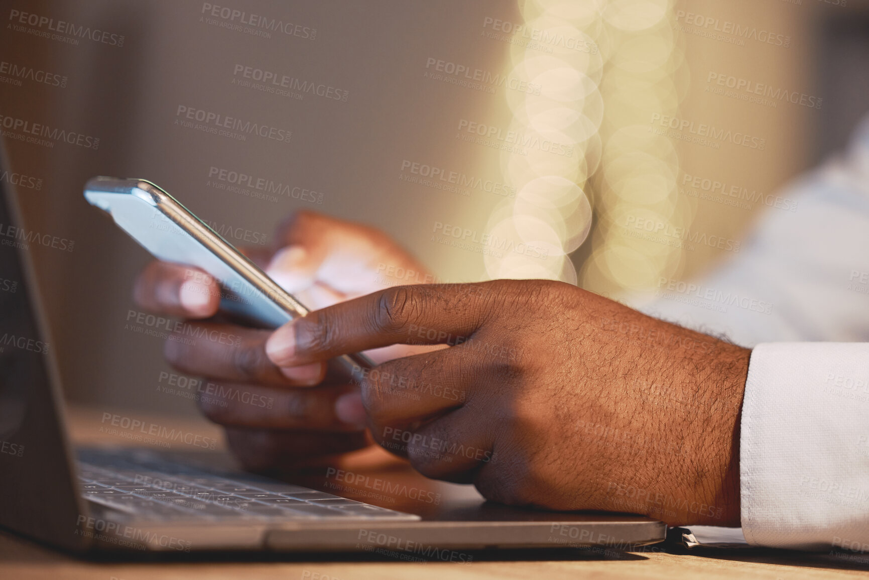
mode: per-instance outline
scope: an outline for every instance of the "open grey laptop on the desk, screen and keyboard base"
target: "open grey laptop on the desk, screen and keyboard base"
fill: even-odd
[[[63,344],[49,336],[31,263],[30,249],[54,241],[23,223],[5,169],[0,149],[0,526],[77,553],[336,551],[454,562],[468,561],[467,550],[635,550],[665,538],[666,525],[647,517],[512,508],[469,485],[437,483],[438,501],[421,501],[408,482],[436,483],[409,466],[368,474],[402,484],[356,494],[366,502],[300,484],[311,479],[301,472],[289,482],[246,473],[219,452],[75,448],[55,363]]]

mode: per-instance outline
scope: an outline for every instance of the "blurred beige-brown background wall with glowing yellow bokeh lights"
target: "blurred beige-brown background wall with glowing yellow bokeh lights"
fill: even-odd
[[[630,302],[733,256],[869,109],[865,1],[0,8],[0,115],[99,139],[4,141],[36,180],[18,187],[27,226],[75,242],[32,250],[67,396],[110,407],[195,412],[156,390],[162,340],[128,324],[149,258],[84,203],[88,177],[146,177],[239,245],[318,210],[387,231],[445,281],[553,277]],[[265,73],[296,80],[261,90]],[[215,134],[197,111],[292,137]]]

